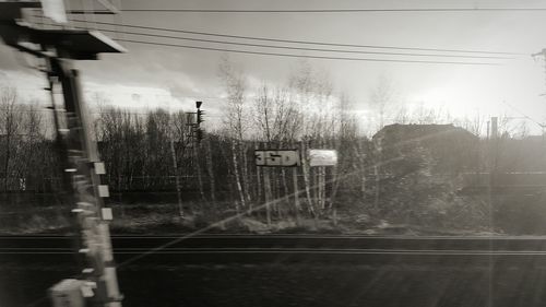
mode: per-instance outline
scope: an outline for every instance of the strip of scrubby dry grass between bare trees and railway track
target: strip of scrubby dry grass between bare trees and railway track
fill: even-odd
[[[359,235],[472,235],[490,234],[485,228],[427,227],[425,225],[392,223],[371,219],[365,213],[340,212],[335,219],[285,217],[273,219],[271,225],[263,214],[242,215],[232,219],[236,212],[222,215],[204,215],[188,211],[183,217],[178,205],[163,204],[110,204],[115,220],[112,234],[180,234],[207,228],[209,233],[295,233],[295,234],[359,234]],[[5,208],[5,206],[3,206]],[[72,232],[70,206],[9,206],[0,211],[0,234],[63,234]],[[334,221],[335,220],[335,221]],[[217,223],[218,221],[227,221]]]

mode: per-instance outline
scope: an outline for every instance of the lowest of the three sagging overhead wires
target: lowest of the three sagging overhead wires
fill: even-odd
[[[167,43],[156,43],[156,42],[142,42],[142,40],[133,40],[133,39],[116,39],[116,40],[117,42],[124,42],[124,43],[133,43],[133,44],[146,44],[146,45],[154,45],[154,46],[167,46],[167,47],[176,47],[176,48],[188,48],[188,49],[211,50],[211,51],[222,51],[222,52],[246,54],[246,55],[290,57],[290,58],[346,60],[346,61],[369,61],[369,62],[426,63],[426,64],[462,64],[462,66],[498,66],[499,64],[499,63],[491,63],[491,62],[459,62],[459,61],[402,60],[402,59],[372,59],[372,58],[308,56],[308,55],[292,55],[292,54],[263,52],[263,51],[237,50],[237,49],[226,49],[226,48],[201,47],[201,46],[192,46],[192,45],[178,45],[178,44],[167,44]]]

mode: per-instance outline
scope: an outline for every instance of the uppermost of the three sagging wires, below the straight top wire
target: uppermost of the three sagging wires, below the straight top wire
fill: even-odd
[[[82,20],[70,20],[70,21],[72,21],[72,22],[85,22],[85,21],[82,21]],[[186,31],[186,29],[165,28],[165,27],[155,27],[155,26],[144,26],[144,25],[134,25],[134,24],[118,24],[118,23],[98,22],[98,21],[96,21],[94,23],[102,24],[102,25],[112,25],[112,26],[141,28],[141,29],[153,29],[153,31],[164,31],[164,32],[173,32],[173,33],[185,33],[185,34],[204,35],[204,36],[241,38],[241,39],[252,39],[252,40],[263,40],[263,42],[292,43],[292,44],[302,44],[302,45],[322,45],[322,46],[335,46],[335,47],[356,47],[356,48],[370,48],[370,49],[395,49],[395,50],[438,51],[438,52],[508,55],[508,56],[521,56],[521,55],[523,55],[523,54],[518,54],[518,52],[490,51],[490,50],[420,48],[420,47],[401,47],[401,46],[378,46],[378,45],[360,45],[360,44],[341,44],[341,43],[329,43],[329,42],[310,42],[310,40],[298,40],[298,39],[281,39],[281,38],[268,38],[268,37],[256,37],[256,36],[219,34],[219,33],[210,33],[210,32],[197,32],[197,31]]]

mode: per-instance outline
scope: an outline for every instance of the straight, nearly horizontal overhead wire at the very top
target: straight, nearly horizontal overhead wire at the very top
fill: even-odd
[[[407,8],[407,9],[290,9],[290,10],[219,10],[219,9],[122,9],[121,12],[154,13],[464,13],[464,12],[534,12],[546,8]],[[69,14],[112,14],[107,10],[68,10]]]

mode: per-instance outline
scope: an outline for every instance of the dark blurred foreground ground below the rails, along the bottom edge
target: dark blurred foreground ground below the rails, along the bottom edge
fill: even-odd
[[[2,306],[48,306],[46,290],[66,265],[0,265]],[[529,307],[546,299],[545,268],[526,265],[229,264],[119,269],[124,306],[187,307]],[[35,305],[26,305],[33,303]],[[7,305],[3,305],[7,304]]]

